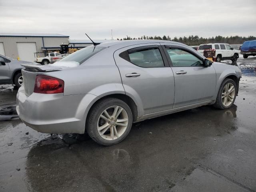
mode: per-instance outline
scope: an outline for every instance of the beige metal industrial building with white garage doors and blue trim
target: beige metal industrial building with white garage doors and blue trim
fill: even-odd
[[[61,34],[0,33],[0,54],[13,59],[34,62],[34,53],[44,56],[69,44],[69,36]]]

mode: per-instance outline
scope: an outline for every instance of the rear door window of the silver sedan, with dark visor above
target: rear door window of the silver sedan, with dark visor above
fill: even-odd
[[[164,67],[164,61],[158,48],[137,50],[128,55],[130,62],[139,67]]]

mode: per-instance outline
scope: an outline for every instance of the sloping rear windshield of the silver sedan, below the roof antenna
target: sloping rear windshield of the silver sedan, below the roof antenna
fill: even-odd
[[[82,64],[88,58],[90,58],[91,56],[93,56],[94,54],[100,52],[101,50],[103,50],[105,48],[106,47],[98,47],[98,46],[85,47],[79,51],[76,51],[76,52],[66,56],[61,61],[75,61],[75,62]]]

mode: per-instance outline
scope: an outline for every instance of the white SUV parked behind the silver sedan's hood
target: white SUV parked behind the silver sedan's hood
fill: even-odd
[[[220,62],[221,60],[232,60],[232,62],[236,62],[239,58],[239,50],[233,49],[229,44],[226,43],[201,44],[198,47],[198,52],[203,55],[205,49],[216,50],[215,61],[217,62]]]

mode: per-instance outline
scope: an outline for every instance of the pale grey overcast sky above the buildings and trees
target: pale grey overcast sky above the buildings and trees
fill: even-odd
[[[70,39],[256,36],[256,0],[0,0],[0,26]]]

